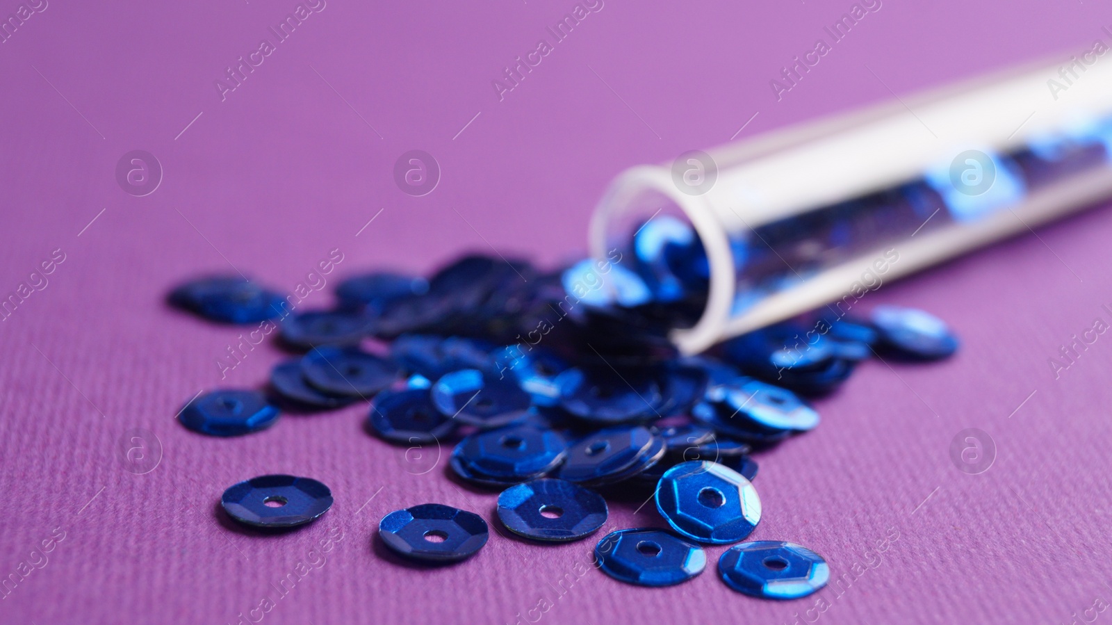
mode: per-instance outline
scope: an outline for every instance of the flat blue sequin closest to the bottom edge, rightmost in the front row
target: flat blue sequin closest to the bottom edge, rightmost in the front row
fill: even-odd
[[[755,540],[726,549],[718,574],[731,588],[766,599],[797,599],[820,591],[830,581],[822,556],[794,543]]]

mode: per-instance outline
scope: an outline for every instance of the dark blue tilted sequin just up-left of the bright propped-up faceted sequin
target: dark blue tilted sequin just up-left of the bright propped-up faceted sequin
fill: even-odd
[[[663,450],[663,437],[641,426],[596,431],[567,450],[559,477],[580,484],[605,483],[643,463],[655,446]]]

